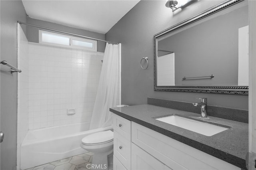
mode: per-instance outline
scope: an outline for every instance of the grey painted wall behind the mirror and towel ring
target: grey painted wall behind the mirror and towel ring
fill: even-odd
[[[209,105],[248,110],[248,96],[154,91],[154,34],[223,0],[198,0],[175,12],[166,8],[165,2],[141,0],[105,35],[106,40],[122,43],[122,104],[145,104],[147,97],[186,102],[195,102],[198,97],[206,97]],[[140,68],[142,57],[149,59],[146,70]]]

